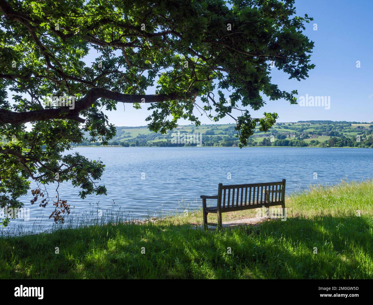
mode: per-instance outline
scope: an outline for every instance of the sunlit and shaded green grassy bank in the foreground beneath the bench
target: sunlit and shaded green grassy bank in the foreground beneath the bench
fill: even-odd
[[[191,229],[197,212],[0,238],[0,278],[372,279],[372,195],[373,181],[312,188],[287,199],[286,221],[222,231]]]

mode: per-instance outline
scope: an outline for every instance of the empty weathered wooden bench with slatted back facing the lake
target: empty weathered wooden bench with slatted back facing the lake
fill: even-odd
[[[201,195],[203,203],[203,225],[222,228],[222,213],[281,206],[285,211],[285,183],[280,182],[223,185],[219,183],[216,196]],[[207,199],[217,199],[217,206],[207,207]],[[208,223],[207,215],[217,214],[217,223]]]

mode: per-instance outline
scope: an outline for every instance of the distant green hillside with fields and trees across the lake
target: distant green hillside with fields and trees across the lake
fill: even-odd
[[[248,146],[321,146],[321,147],[370,147],[372,146],[372,124],[347,121],[298,121],[276,123],[267,133],[257,126]],[[190,134],[202,135],[203,146],[237,146],[235,124],[203,124],[201,126],[178,126],[167,134],[154,133],[147,126],[116,127],[116,136],[109,142],[122,146],[195,146],[195,143],[173,143]],[[89,138],[88,133],[85,133]],[[330,139],[333,139],[330,142]],[[84,142],[80,145],[100,145]]]

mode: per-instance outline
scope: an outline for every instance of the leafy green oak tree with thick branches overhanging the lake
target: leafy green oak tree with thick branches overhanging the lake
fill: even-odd
[[[87,140],[83,131],[103,145],[112,139],[104,109],[146,104],[148,127],[161,133],[180,118],[198,126],[201,115],[228,115],[242,147],[257,124],[266,131],[278,117],[253,118],[251,109],[296,103],[297,91],[278,88],[271,70],[301,80],[314,67],[303,34],[312,18],[297,16],[294,0],[0,0],[0,14],[0,207],[22,207],[33,180],[31,203],[53,201],[55,220],[69,212],[60,183],[71,181],[81,198],[106,194],[104,164],[69,151]]]

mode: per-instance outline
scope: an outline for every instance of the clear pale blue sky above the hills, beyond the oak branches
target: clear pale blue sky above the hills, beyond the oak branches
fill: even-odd
[[[315,43],[311,56],[316,67],[306,80],[289,80],[288,76],[273,71],[273,82],[283,90],[298,90],[298,97],[330,96],[330,109],[325,107],[300,107],[284,100],[268,101],[259,111],[250,111],[253,117],[263,112],[277,112],[278,122],[299,120],[373,121],[373,1],[347,0],[299,0],[295,2],[297,15],[313,17],[306,25],[305,34]],[[317,31],[313,24],[317,24]],[[361,67],[356,67],[360,61]],[[147,93],[154,93],[150,88]],[[147,107],[134,109],[132,105],[118,104],[115,112],[106,112],[116,126],[147,125],[150,114]],[[195,111],[198,114],[198,111]],[[198,116],[198,115],[197,115]],[[199,116],[202,124],[211,124],[205,116]],[[226,117],[218,123],[234,123]],[[179,124],[189,124],[180,120]]]

